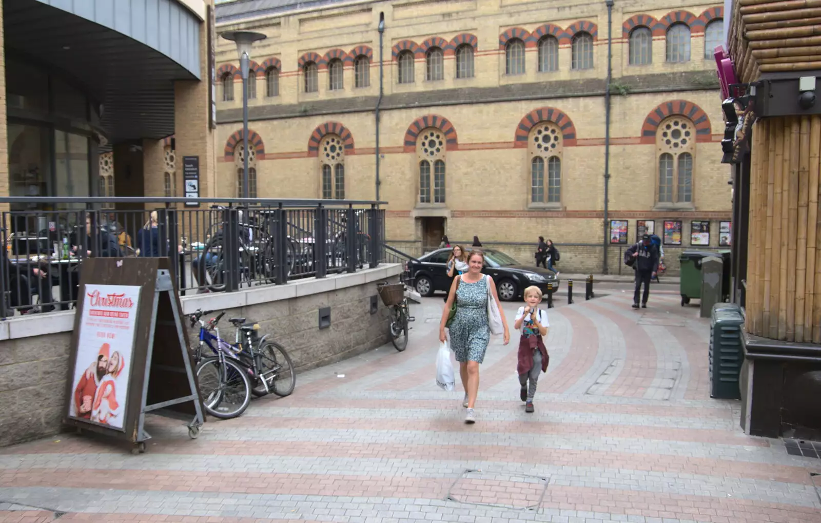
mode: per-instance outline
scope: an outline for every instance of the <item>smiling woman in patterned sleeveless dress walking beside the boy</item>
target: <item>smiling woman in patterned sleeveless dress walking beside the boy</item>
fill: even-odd
[[[467,408],[465,423],[473,424],[476,422],[474,406],[479,392],[479,365],[484,361],[484,353],[488,350],[490,342],[488,300],[495,302],[501,316],[505,345],[510,342],[511,335],[507,328],[505,313],[499,304],[496,284],[493,278],[482,273],[484,253],[481,250],[472,250],[467,263],[468,271],[454,278],[447,295],[447,305],[439,323],[439,341],[447,340],[445,325],[456,300],[456,314],[450,326],[451,348],[456,353],[462,387],[465,388],[465,400],[462,401],[462,406]]]

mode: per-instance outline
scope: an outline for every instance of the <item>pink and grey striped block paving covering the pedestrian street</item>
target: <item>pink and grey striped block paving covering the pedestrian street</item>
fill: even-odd
[[[709,321],[672,293],[630,305],[614,290],[549,311],[533,414],[518,338],[493,337],[466,425],[462,392],[434,383],[443,302],[424,299],[406,351],[300,374],[199,439],[149,416],[140,456],[75,434],[0,449],[0,522],[821,523],[821,461],[710,399]]]

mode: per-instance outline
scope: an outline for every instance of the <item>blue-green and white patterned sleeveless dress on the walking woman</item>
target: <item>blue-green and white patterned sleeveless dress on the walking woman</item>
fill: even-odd
[[[456,315],[450,328],[456,361],[482,363],[490,342],[488,327],[488,276],[475,283],[464,279],[456,289]]]

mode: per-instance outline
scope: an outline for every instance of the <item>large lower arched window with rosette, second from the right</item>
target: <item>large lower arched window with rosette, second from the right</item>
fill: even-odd
[[[562,130],[553,122],[541,122],[530,130],[530,203],[562,202]],[[547,176],[544,167],[547,163]]]

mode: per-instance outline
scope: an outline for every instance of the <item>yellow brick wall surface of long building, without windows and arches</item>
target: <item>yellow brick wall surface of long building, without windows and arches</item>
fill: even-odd
[[[644,3],[649,11],[640,8]],[[391,2],[373,2],[369,6],[371,21],[365,25],[362,6],[337,7],[328,10],[305,11],[291,16],[273,17],[230,27],[250,28],[268,34],[268,39],[255,47],[256,62],[267,57],[282,61],[280,95],[264,97],[264,81],[257,85],[257,99],[250,107],[291,105],[374,96],[378,93],[378,33],[375,30],[379,11],[385,13],[386,33],[385,94],[425,93],[459,87],[493,88],[500,85],[527,84],[547,80],[584,80],[606,76],[607,11],[602,5],[570,0],[557,3],[532,2],[427,2],[402,4],[409,7],[399,12]],[[691,39],[691,60],[681,64],[664,62],[663,36],[653,42],[653,63],[628,65],[626,41],[622,39],[622,23],[644,13],[661,20],[672,11],[686,10],[698,17],[715,4],[694,4],[681,7],[681,2],[635,2],[630,10],[613,10],[613,76],[649,75],[685,71],[711,71],[714,62],[704,60],[703,33],[695,30]],[[346,10],[347,9],[347,10]],[[445,14],[438,11],[445,10]],[[328,16],[323,25],[322,16]],[[346,14],[347,13],[347,14]],[[571,71],[571,49],[562,44],[559,50],[559,70],[537,71],[538,53],[529,47],[526,53],[526,74],[506,76],[504,53],[499,50],[499,36],[505,30],[519,27],[533,31],[551,23],[562,30],[578,21],[598,25],[595,45],[595,67],[590,71]],[[228,26],[221,28],[227,29]],[[306,28],[310,30],[306,30]],[[703,28],[702,28],[703,31]],[[392,45],[410,39],[421,44],[432,36],[447,41],[456,34],[470,33],[478,38],[475,56],[475,78],[455,78],[453,57],[445,59],[445,79],[424,80],[424,59],[415,62],[415,83],[397,85],[397,65],[392,62]],[[374,48],[370,87],[353,88],[353,70],[345,69],[345,89],[328,91],[327,71],[319,72],[319,93],[305,94],[296,62],[303,53],[323,56],[329,49],[346,52],[358,45]],[[218,65],[236,63],[233,44],[219,44]],[[241,107],[241,88],[235,87],[236,101],[219,103],[218,108]],[[562,269],[598,272],[602,268],[604,209],[604,99],[603,96],[566,96],[554,98],[545,92],[544,99],[491,102],[477,99],[462,103],[425,107],[423,100],[407,108],[383,111],[380,146],[380,199],[388,201],[386,234],[392,245],[410,254],[419,254],[424,235],[422,215],[446,218],[447,235],[452,241],[470,241],[478,235],[485,245],[497,245],[522,261],[532,259],[537,236],[551,237],[562,248]],[[657,206],[658,151],[654,140],[642,138],[645,118],[655,108],[671,100],[684,100],[704,111],[709,119],[709,135],[699,136],[695,145],[693,205],[688,209],[664,210]],[[346,197],[370,200],[375,197],[375,126],[372,111],[315,115],[310,106],[305,116],[255,119],[250,129],[264,141],[264,155],[257,160],[259,197],[315,198],[320,195],[319,159],[311,157],[309,140],[319,126],[338,122],[351,132],[354,149],[346,151]],[[538,108],[556,108],[566,114],[576,129],[575,143],[566,143],[562,151],[562,201],[557,209],[530,207],[530,154],[517,148],[516,128],[525,115]],[[415,152],[406,152],[405,133],[412,122],[428,114],[447,118],[456,130],[458,145],[447,150],[447,205],[421,206],[418,200],[418,162]],[[234,194],[236,167],[232,160],[222,158],[222,148],[229,137],[241,129],[237,122],[220,124],[217,131],[218,195]],[[668,266],[677,270],[677,252],[690,248],[690,221],[711,220],[711,245],[718,246],[718,222],[730,217],[731,190],[727,185],[729,167],[720,163],[723,119],[718,90],[686,90],[667,92],[628,92],[612,96],[610,135],[609,218],[629,222],[628,240],[635,241],[635,221],[655,220],[661,236],[664,220],[681,220],[681,248],[667,246]],[[409,148],[412,149],[412,148]],[[619,252],[626,246],[608,248],[611,272],[620,266]]]

